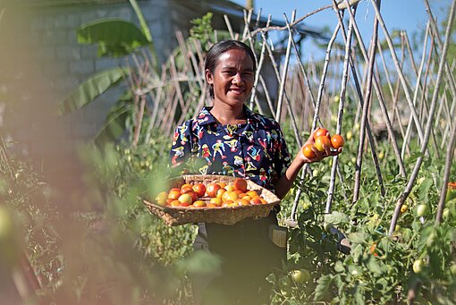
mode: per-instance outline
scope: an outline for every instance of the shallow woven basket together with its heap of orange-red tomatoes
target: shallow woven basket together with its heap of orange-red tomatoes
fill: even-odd
[[[199,222],[234,225],[246,218],[268,216],[280,199],[272,191],[246,179],[186,174],[170,179],[155,199],[144,199],[148,210],[166,225]]]

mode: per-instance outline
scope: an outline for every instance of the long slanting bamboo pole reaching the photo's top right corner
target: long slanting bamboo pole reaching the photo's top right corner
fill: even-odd
[[[434,117],[435,104],[437,101],[437,97],[438,97],[438,93],[439,93],[438,91],[439,91],[440,83],[442,80],[443,67],[446,63],[446,54],[448,51],[448,47],[450,45],[449,41],[450,41],[450,37],[451,37],[451,33],[452,33],[452,22],[454,20],[455,6],[456,6],[456,0],[453,0],[452,8],[450,10],[450,15],[448,17],[448,25],[446,27],[446,33],[445,33],[445,43],[443,45],[442,55],[441,55],[440,64],[439,64],[439,68],[438,68],[438,72],[437,72],[437,80],[435,81],[435,89],[434,89],[434,93],[433,93],[433,97],[432,97],[432,101],[431,101],[431,106],[429,109],[429,117],[427,119],[427,124],[426,124],[425,138],[424,138],[424,141],[422,142],[421,149],[420,149],[421,156],[418,157],[417,162],[413,168],[413,172],[410,175],[409,182],[407,183],[406,188],[404,189],[404,191],[401,193],[401,196],[397,200],[396,207],[394,208],[394,212],[393,212],[393,218],[391,220],[390,229],[389,229],[390,235],[393,234],[393,232],[396,228],[397,220],[399,218],[399,215],[401,214],[402,204],[409,197],[410,191],[412,190],[415,180],[417,178],[419,169],[421,168],[421,165],[423,163],[423,155],[426,152],[427,142],[429,141],[429,137],[430,137],[430,133],[431,133],[431,129],[432,129],[432,119]]]

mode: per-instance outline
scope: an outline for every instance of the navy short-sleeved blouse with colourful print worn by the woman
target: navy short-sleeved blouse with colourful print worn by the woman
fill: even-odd
[[[211,108],[203,107],[174,131],[172,172],[234,175],[274,191],[291,163],[279,123],[244,106],[246,123],[223,125]]]

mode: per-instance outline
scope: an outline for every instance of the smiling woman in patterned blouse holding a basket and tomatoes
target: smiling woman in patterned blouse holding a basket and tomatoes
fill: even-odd
[[[300,149],[291,160],[279,123],[244,105],[255,71],[253,52],[240,41],[221,41],[209,49],[205,76],[213,106],[205,106],[198,117],[176,128],[171,168],[179,173],[243,177],[283,199],[305,163],[334,156],[341,149],[315,149],[312,159]],[[311,135],[306,144],[313,144],[313,140]],[[277,225],[277,212],[278,207],[265,218],[236,225],[198,224],[195,250],[209,250],[222,258],[222,270],[213,278],[193,279],[197,303],[269,301],[266,276],[286,261],[286,249],[269,238],[269,228]]]

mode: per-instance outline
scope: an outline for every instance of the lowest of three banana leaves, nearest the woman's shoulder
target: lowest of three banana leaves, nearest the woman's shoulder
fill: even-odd
[[[105,124],[95,137],[97,146],[116,140],[122,135],[123,131],[125,131],[125,121],[131,109],[133,109],[133,104],[125,102],[121,102],[111,108],[111,111],[107,114]]]

